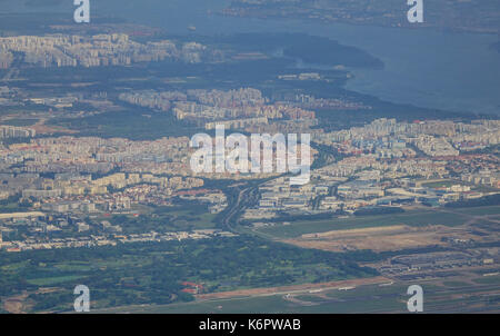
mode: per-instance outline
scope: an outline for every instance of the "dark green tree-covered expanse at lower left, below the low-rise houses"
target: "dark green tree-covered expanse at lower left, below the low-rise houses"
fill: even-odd
[[[250,236],[0,251],[0,297],[29,293],[30,313],[69,310],[72,289],[92,288],[94,308],[192,300],[183,281],[207,293],[372,277],[371,253],[301,249]],[[58,287],[44,293],[41,289]],[[53,288],[52,288],[53,289]]]

